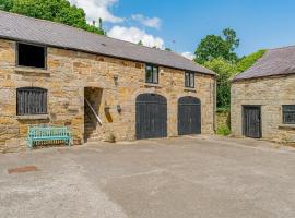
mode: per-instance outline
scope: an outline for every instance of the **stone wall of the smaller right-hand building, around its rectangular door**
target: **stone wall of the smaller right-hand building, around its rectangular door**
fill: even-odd
[[[283,105],[295,105],[295,75],[245,80],[232,84],[232,134],[243,136],[243,106],[261,105],[262,137],[295,142],[295,125],[283,124]]]

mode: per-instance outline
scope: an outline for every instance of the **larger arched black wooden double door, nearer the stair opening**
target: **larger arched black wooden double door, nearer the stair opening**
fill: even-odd
[[[167,137],[167,100],[155,94],[137,98],[137,138]]]

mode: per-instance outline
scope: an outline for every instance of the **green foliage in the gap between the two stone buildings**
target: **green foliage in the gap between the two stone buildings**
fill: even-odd
[[[235,65],[223,58],[206,61],[204,66],[217,73],[217,108],[229,108],[231,84],[229,78],[235,72]]]

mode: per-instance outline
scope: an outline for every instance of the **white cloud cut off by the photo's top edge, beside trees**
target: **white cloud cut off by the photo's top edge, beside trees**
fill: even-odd
[[[72,4],[84,9],[88,22],[97,21],[99,17],[105,22],[121,23],[122,17],[115,16],[110,9],[118,0],[70,0]]]

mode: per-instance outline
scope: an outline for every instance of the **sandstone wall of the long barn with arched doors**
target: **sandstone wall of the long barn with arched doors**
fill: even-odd
[[[69,125],[74,144],[83,144],[85,87],[102,89],[103,126],[97,128],[102,140],[109,133],[117,141],[135,138],[135,98],[143,93],[167,98],[168,136],[177,136],[177,100],[182,96],[201,100],[202,133],[214,133],[215,78],[211,75],[197,74],[191,89],[184,87],[184,71],[160,68],[160,84],[146,84],[144,63],[51,47],[47,48],[47,70],[16,68],[15,45],[0,39],[0,150],[24,149],[28,126],[42,124]],[[16,116],[16,88],[31,86],[48,90],[47,117]]]

